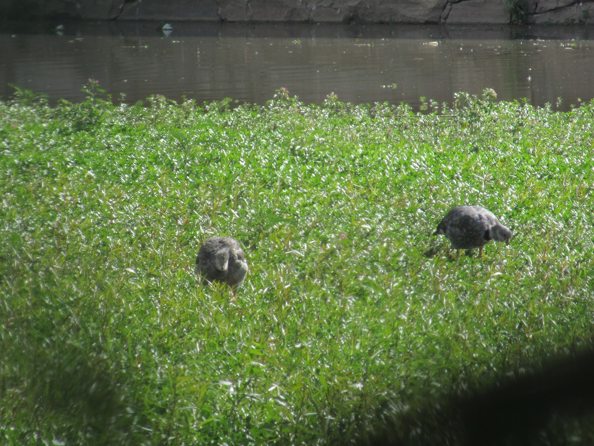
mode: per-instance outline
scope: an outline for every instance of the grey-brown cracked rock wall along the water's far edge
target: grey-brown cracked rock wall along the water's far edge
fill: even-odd
[[[99,20],[588,24],[594,0],[0,0],[0,12]]]

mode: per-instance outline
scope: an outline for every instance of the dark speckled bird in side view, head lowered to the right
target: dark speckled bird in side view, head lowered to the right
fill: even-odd
[[[460,256],[460,249],[479,249],[493,239],[510,244],[511,231],[500,224],[497,217],[481,206],[456,206],[445,214],[437,225],[433,235],[443,234],[450,240],[451,246],[457,250],[456,259]]]

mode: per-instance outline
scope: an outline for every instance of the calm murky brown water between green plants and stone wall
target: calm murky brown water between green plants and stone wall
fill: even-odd
[[[0,98],[9,83],[59,98],[84,98],[89,78],[119,101],[161,94],[197,103],[263,104],[280,87],[305,103],[451,103],[454,93],[492,88],[567,109],[594,98],[594,40],[584,27],[254,25],[173,23],[5,24]],[[594,36],[594,32],[592,33]]]

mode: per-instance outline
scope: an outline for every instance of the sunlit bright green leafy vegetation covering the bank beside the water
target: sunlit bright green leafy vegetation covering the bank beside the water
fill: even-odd
[[[594,102],[85,90],[0,103],[3,444],[451,440],[435,401],[592,341]],[[454,261],[431,233],[461,203],[511,246]],[[235,297],[194,277],[211,235],[244,246]]]

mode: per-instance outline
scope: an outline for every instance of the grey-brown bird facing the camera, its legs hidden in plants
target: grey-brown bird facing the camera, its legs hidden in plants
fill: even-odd
[[[203,285],[220,282],[235,291],[248,274],[248,262],[235,238],[211,237],[200,247],[194,271]]]

